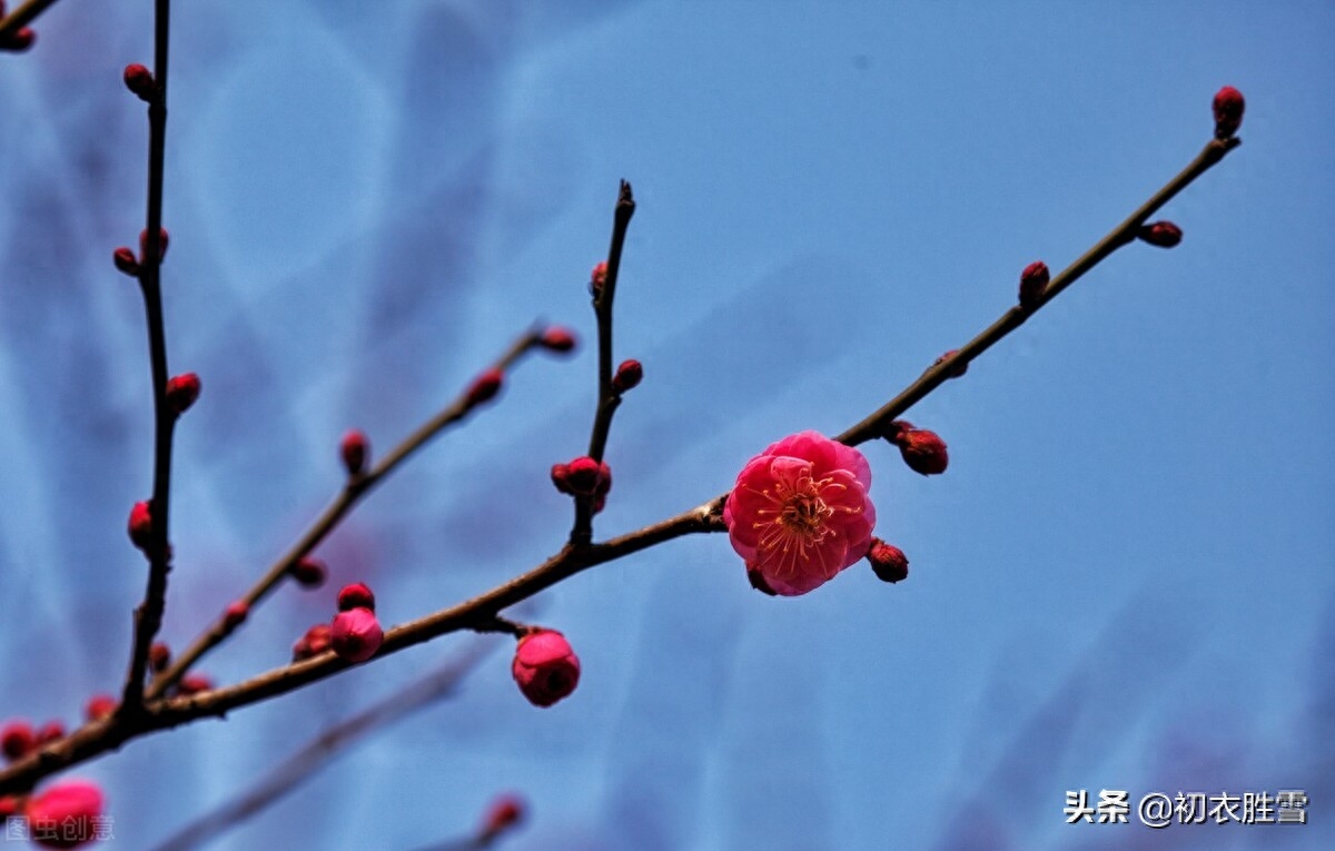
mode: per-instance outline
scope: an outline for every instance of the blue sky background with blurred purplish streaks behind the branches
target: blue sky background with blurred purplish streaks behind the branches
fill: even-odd
[[[115,690],[150,490],[143,316],[111,249],[143,227],[120,84],[148,3],[65,3],[0,63],[0,715]],[[797,599],[724,536],[541,599],[583,662],[539,711],[509,648],[218,848],[410,848],[490,798],[515,851],[1320,848],[1335,842],[1335,8],[1327,3],[178,4],[164,268],[178,431],[166,635],[183,644],[339,487],[535,317],[591,340],[617,180],[639,201],[617,356],[638,357],[602,535],[726,490],[768,443],[838,432],[971,337],[1033,259],[1067,265],[1247,96],[1244,144],[869,446],[865,566]],[[553,552],[547,482],[587,442],[591,347],[527,361],[208,659],[286,660],[343,582],[388,623]],[[446,639],[81,767],[147,848]],[[1067,790],[1303,788],[1311,824],[1067,826]]]

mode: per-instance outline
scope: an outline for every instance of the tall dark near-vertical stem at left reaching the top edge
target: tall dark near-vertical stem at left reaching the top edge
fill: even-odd
[[[148,586],[144,602],[135,610],[135,638],[129,672],[117,714],[139,712],[148,671],[148,648],[162,627],[167,604],[167,574],[171,572],[168,510],[171,498],[171,444],[176,415],[167,404],[167,335],[162,303],[163,163],[167,151],[167,41],[171,3],[156,0],[154,7],[155,93],[148,103],[148,213],[140,259],[140,289],[148,324],[148,355],[154,385],[154,496],[150,502],[152,535],[148,552]]]

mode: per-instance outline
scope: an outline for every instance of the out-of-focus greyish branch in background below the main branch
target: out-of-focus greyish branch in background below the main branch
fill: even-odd
[[[493,642],[478,640],[462,655],[450,659],[421,680],[410,683],[406,688],[330,727],[270,771],[254,787],[191,822],[158,846],[156,851],[195,848],[276,804],[372,732],[451,696],[459,682],[482,662],[493,647]]]

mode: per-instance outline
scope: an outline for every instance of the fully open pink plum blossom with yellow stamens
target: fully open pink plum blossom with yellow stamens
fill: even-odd
[[[814,431],[784,438],[746,463],[728,495],[733,550],[774,594],[806,594],[866,555],[870,486],[857,450]]]

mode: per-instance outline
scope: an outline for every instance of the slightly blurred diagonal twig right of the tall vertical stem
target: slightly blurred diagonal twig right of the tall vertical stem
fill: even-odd
[[[538,347],[542,332],[534,327],[519,336],[503,355],[495,361],[495,368],[502,372],[514,365],[526,352]],[[388,455],[382,458],[370,471],[347,479],[338,498],[324,510],[314,524],[284,552],[268,571],[240,598],[251,610],[263,600],[286,576],[291,574],[292,566],[310,555],[332,532],[344,516],[362,500],[384,482],[390,474],[398,470],[410,455],[422,448],[431,438],[435,438],[446,427],[458,423],[475,407],[465,391],[441,409],[439,413],[423,423],[409,435],[399,446],[394,447]],[[220,644],[231,635],[239,624],[219,618],[214,624],[200,634],[184,652],[179,654],[148,687],[148,699],[163,696],[166,691],[178,683],[182,676],[210,650]]]

